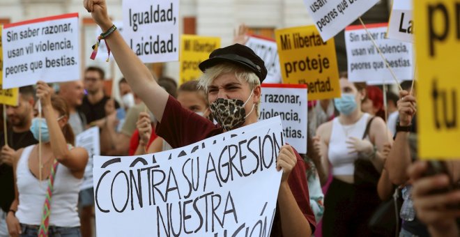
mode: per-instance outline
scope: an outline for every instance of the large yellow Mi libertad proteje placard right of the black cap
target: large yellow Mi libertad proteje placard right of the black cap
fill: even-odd
[[[334,38],[323,42],[315,26],[275,31],[285,84],[307,84],[308,100],[340,97]]]

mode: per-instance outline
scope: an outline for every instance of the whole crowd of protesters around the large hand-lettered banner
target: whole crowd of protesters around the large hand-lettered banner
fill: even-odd
[[[105,1],[84,1],[102,31]],[[93,236],[93,188],[80,190],[89,160],[75,136],[100,128],[101,155],[167,151],[259,121],[267,75],[252,49],[236,44],[200,63],[203,75],[178,86],[155,79],[118,31],[107,38],[124,78],[121,101],[105,72],[20,88],[0,136],[0,237]],[[307,154],[284,145],[270,236],[460,236],[460,162],[417,157],[417,93],[399,95],[339,75],[342,96],[310,101]],[[385,91],[385,94],[384,94]],[[40,142],[39,142],[40,141]]]

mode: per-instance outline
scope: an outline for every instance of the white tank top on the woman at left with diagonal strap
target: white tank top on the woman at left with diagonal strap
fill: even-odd
[[[22,224],[40,225],[48,180],[39,181],[29,169],[33,146],[24,148],[17,162],[16,178],[20,203],[16,217]],[[77,201],[82,181],[82,178],[75,178],[64,165],[57,166],[49,216],[50,226],[79,227]]]

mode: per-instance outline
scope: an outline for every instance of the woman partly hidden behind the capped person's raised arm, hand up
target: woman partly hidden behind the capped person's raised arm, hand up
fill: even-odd
[[[209,103],[206,99],[206,93],[198,88],[198,81],[190,81],[182,84],[177,91],[177,100],[181,103],[183,108],[210,119]],[[146,144],[148,144],[152,135],[151,119],[148,114],[139,114],[137,129],[139,130],[140,140],[136,155],[141,155],[145,152],[156,153],[171,149],[171,146],[161,137],[156,138],[146,149]]]

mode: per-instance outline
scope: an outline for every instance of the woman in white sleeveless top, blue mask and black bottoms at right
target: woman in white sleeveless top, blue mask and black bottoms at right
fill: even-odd
[[[380,153],[390,137],[383,119],[361,112],[364,83],[349,82],[346,73],[341,73],[340,88],[342,97],[334,99],[339,116],[320,125],[314,137],[321,159],[318,169],[328,174],[332,165],[323,236],[378,236],[367,223],[380,203],[376,185],[385,159]]]

